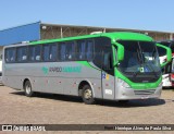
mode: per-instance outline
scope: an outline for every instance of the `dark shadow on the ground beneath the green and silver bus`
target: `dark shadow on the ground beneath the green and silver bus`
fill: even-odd
[[[25,96],[24,92],[13,92],[10,94]],[[82,98],[76,96],[36,93],[34,97],[83,103]],[[160,105],[165,105],[165,100],[164,99],[137,99],[137,100],[129,100],[128,102],[123,102],[123,101],[120,102],[114,100],[102,100],[102,99],[96,100],[96,106],[120,107],[120,108],[150,107],[150,106],[160,106]]]

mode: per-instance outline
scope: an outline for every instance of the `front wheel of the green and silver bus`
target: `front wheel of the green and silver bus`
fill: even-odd
[[[95,103],[95,98],[94,98],[94,95],[92,95],[92,90],[91,90],[91,87],[89,85],[85,85],[83,87],[82,98],[83,98],[83,101],[86,105]]]

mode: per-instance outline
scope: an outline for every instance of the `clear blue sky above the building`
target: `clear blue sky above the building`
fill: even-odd
[[[174,33],[174,0],[0,0],[0,29],[38,21]]]

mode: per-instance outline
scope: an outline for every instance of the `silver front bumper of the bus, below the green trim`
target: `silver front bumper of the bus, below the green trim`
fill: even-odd
[[[159,98],[161,96],[162,86],[156,89],[133,89],[126,87],[120,87],[115,90],[116,100],[128,100],[128,99],[148,99]]]

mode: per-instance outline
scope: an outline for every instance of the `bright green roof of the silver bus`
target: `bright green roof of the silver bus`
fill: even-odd
[[[95,34],[95,35],[84,35],[84,36],[66,37],[66,38],[59,38],[59,39],[39,40],[39,41],[29,42],[29,45],[49,44],[49,42],[57,42],[57,41],[69,41],[69,40],[77,40],[77,39],[94,38],[94,37],[109,37],[113,39],[113,41],[115,40],[152,41],[153,40],[151,37],[145,34],[117,32],[117,33],[101,33],[101,34]]]

